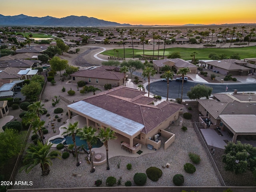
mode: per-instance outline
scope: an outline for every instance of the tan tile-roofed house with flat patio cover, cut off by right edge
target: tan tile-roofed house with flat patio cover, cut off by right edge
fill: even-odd
[[[210,120],[210,128],[232,132],[232,141],[238,135],[256,135],[256,95],[213,94],[214,99],[198,100],[199,121]]]

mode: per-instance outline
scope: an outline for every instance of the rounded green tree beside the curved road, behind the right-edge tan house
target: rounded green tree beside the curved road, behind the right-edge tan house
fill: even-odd
[[[200,99],[202,97],[206,97],[207,99],[211,96],[212,94],[212,88],[208,87],[206,85],[200,85],[197,84],[194,87],[190,88],[190,91],[187,92],[187,96],[190,99]]]

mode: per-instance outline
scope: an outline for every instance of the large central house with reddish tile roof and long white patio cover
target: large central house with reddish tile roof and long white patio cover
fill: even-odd
[[[154,105],[155,99],[144,94],[119,86],[68,105],[68,114],[70,116],[72,111],[86,118],[87,126],[110,127],[116,134],[127,138],[131,147],[139,143],[160,148],[160,142],[151,139],[158,133],[169,134],[170,139],[165,144],[170,145],[175,136],[164,129],[179,118],[183,105],[166,100]]]

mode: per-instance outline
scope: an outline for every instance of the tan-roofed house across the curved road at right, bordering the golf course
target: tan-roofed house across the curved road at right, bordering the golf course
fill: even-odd
[[[214,60],[203,62],[203,64],[207,65],[209,70],[223,75],[248,76],[250,73],[250,68],[242,66],[244,62],[236,59]]]

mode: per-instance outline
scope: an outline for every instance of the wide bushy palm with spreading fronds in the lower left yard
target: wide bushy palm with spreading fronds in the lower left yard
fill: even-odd
[[[51,150],[52,144],[43,145],[41,142],[37,142],[37,145],[30,144],[26,150],[26,154],[23,159],[23,165],[21,170],[25,170],[29,173],[35,166],[40,164],[42,169],[42,176],[46,176],[50,173],[50,166],[52,166],[52,158],[60,158],[60,152],[57,150]]]

